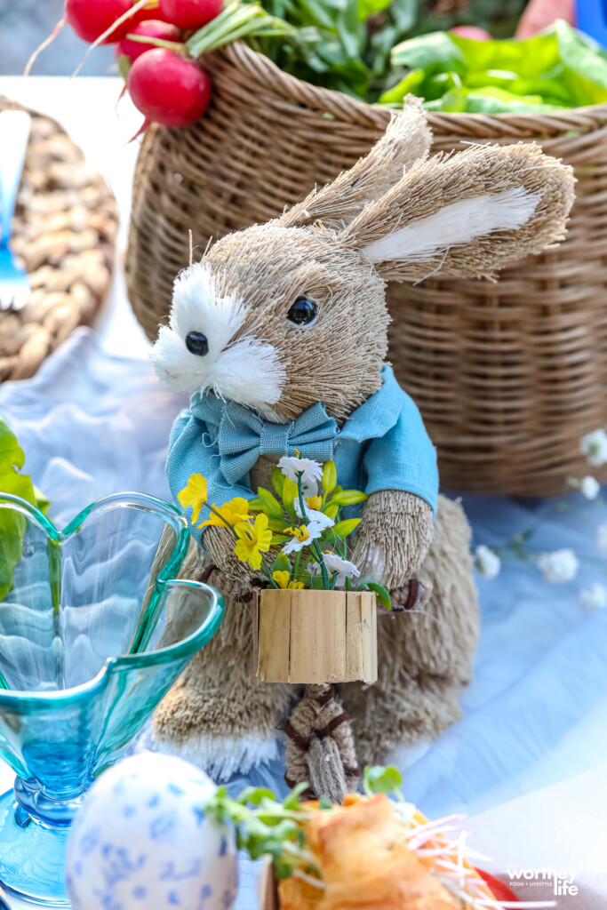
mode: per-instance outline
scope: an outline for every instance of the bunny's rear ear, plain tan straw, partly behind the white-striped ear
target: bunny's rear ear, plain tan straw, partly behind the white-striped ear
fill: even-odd
[[[408,96],[369,155],[343,171],[326,187],[314,189],[303,202],[279,219],[282,227],[303,227],[322,221],[343,227],[373,199],[379,199],[400,180],[406,168],[430,148],[430,128],[419,98]]]

